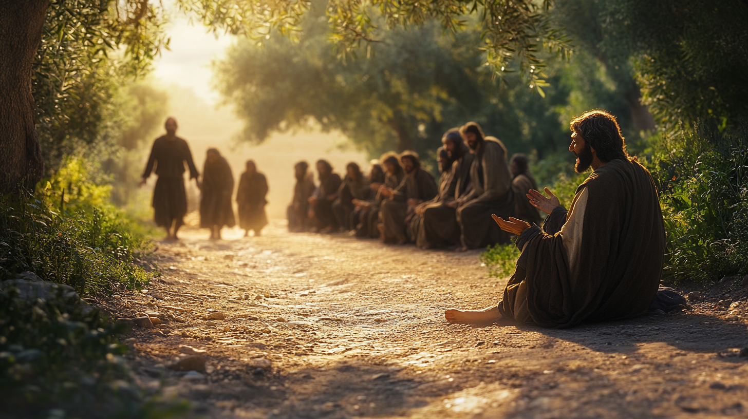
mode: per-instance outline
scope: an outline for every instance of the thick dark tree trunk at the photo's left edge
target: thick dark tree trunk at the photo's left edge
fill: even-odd
[[[31,64],[49,0],[0,0],[0,193],[31,189],[44,173]]]

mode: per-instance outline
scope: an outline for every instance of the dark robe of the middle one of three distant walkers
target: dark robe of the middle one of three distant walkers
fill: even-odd
[[[203,198],[200,200],[200,227],[233,227],[236,220],[231,207],[233,174],[223,156],[203,168]]]

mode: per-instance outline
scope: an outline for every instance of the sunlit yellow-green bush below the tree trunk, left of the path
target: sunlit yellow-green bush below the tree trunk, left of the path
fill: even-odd
[[[106,203],[108,187],[86,173],[81,161],[70,160],[36,198],[0,202],[0,279],[34,272],[82,294],[147,283],[151,275],[133,264],[150,250],[146,237]],[[67,183],[67,195],[57,196],[50,185],[61,177],[75,178],[76,186]]]

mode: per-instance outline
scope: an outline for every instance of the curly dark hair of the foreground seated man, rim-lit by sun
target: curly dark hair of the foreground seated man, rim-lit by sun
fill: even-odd
[[[586,111],[571,120],[569,125],[572,132],[580,135],[595,150],[601,162],[628,159],[621,127],[610,112],[602,109]]]

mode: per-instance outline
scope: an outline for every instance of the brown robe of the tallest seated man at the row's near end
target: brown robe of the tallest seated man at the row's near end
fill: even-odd
[[[515,212],[506,147],[497,138],[489,136],[483,141],[470,165],[470,192],[459,201],[456,215],[465,248],[509,242],[509,233],[491,218],[496,214],[507,219]]]

